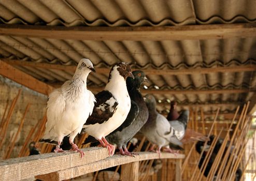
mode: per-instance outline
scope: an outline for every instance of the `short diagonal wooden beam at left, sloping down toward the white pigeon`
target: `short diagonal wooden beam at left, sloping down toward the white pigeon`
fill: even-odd
[[[51,93],[54,89],[52,86],[35,79],[29,74],[26,74],[1,60],[0,74],[41,94],[49,95],[49,93]]]

